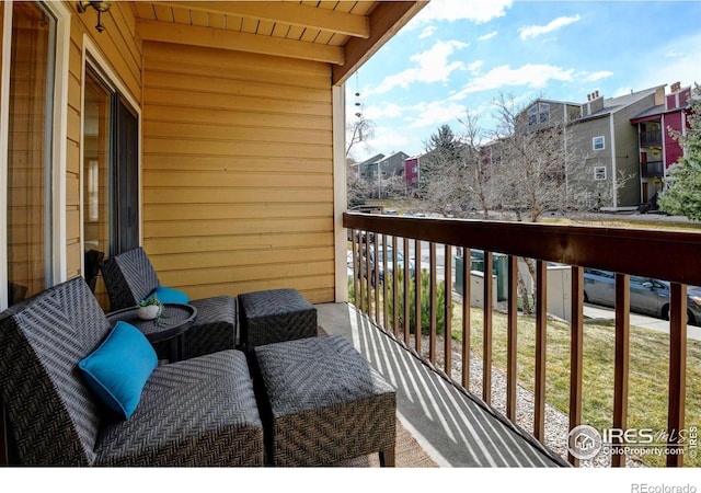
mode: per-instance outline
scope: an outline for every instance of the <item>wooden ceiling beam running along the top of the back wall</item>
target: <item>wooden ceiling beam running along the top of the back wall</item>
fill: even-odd
[[[257,53],[333,65],[345,62],[343,49],[337,46],[145,19],[138,19],[136,25],[137,33],[143,41]]]

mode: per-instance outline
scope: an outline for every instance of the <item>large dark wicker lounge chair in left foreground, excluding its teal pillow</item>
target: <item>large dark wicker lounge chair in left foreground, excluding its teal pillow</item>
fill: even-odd
[[[0,313],[11,463],[263,465],[263,426],[242,352],[156,367],[124,419],[105,409],[78,367],[113,332],[82,277]]]

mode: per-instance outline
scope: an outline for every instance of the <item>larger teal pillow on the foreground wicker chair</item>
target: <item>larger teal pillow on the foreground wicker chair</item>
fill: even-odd
[[[107,339],[78,363],[88,387],[116,414],[128,419],[158,366],[158,356],[134,325],[118,321]]]

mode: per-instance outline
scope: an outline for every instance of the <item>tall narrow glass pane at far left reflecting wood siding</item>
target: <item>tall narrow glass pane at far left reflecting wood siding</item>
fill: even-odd
[[[8,131],[8,302],[51,284],[51,145],[56,20],[14,2]]]

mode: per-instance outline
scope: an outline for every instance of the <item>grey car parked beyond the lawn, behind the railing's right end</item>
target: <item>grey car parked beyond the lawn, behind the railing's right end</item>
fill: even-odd
[[[630,276],[631,311],[669,320],[669,283],[650,277]],[[613,307],[616,276],[608,271],[584,270],[584,301]],[[701,288],[687,288],[687,317],[691,325],[701,324]]]

